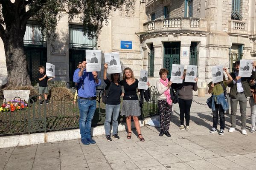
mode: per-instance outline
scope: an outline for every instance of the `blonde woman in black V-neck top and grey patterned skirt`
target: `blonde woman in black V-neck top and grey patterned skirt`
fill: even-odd
[[[138,138],[140,141],[144,142],[145,139],[141,135],[140,132],[140,123],[138,116],[140,116],[140,103],[137,96],[137,88],[138,88],[139,80],[135,79],[133,71],[131,68],[125,68],[123,72],[123,80],[120,81],[120,85],[124,86],[125,95],[123,97],[122,102],[122,111],[121,115],[126,116],[126,124],[128,128],[127,139],[131,139],[131,116],[134,120],[134,125],[138,133]],[[149,82],[147,82],[149,86]]]

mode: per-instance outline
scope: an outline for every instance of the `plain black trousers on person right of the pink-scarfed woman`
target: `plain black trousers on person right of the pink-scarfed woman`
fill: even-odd
[[[184,116],[185,116],[186,126],[189,126],[191,104],[192,104],[192,99],[184,100],[179,98],[180,125],[184,125]]]

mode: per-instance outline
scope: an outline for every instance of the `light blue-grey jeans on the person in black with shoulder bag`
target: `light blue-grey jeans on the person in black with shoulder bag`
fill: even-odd
[[[120,104],[119,105],[106,105],[106,119],[104,123],[105,133],[106,135],[110,135],[110,122],[111,117],[113,113],[113,122],[112,122],[112,128],[113,128],[113,135],[117,134],[117,127],[118,127],[118,116],[120,112]]]

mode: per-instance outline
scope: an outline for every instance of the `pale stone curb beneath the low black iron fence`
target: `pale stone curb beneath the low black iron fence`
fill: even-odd
[[[140,126],[144,126],[148,121],[154,119],[158,116],[152,116],[140,120]],[[132,122],[132,128],[135,128],[134,122]],[[119,131],[125,130],[126,123],[122,122],[118,126]],[[105,134],[104,125],[92,127],[93,136],[99,136]],[[60,142],[65,140],[80,139],[80,130],[60,130],[47,133],[32,133],[24,135],[15,135],[15,136],[2,136],[0,137],[0,148],[6,147],[16,147],[16,146],[26,146],[31,144],[41,144],[47,142]]]

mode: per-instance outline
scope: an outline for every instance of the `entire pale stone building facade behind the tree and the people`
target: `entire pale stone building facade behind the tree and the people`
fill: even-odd
[[[134,11],[128,14],[119,10],[112,12],[97,42],[86,37],[83,41],[76,40],[81,35],[80,21],[69,22],[67,14],[58,23],[58,37],[52,44],[37,42],[34,35],[37,29],[28,23],[28,30],[34,31],[33,36],[24,37],[32,79],[39,64],[50,62],[55,65],[55,80],[72,80],[73,70],[85,57],[86,49],[102,50],[102,54],[118,51],[122,68],[131,67],[137,78],[141,69],[148,70],[151,85],[159,79],[160,68],[171,71],[172,64],[183,64],[185,68],[197,65],[199,86],[206,86],[212,80],[212,66],[224,65],[232,71],[236,60],[256,57],[254,0],[135,2]],[[121,40],[131,41],[132,49],[121,49]],[[1,41],[0,49],[0,83],[4,84],[7,71]]]

